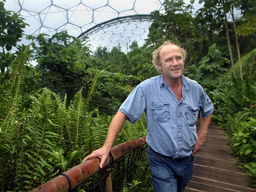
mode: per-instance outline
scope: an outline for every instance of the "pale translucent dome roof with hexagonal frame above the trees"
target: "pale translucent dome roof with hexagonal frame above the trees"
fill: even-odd
[[[89,37],[96,47],[120,46],[126,51],[132,42],[147,38],[150,13],[163,8],[164,0],[6,0],[5,9],[14,11],[29,24],[25,35],[52,36],[66,30],[71,36]],[[28,44],[23,38],[19,44]]]

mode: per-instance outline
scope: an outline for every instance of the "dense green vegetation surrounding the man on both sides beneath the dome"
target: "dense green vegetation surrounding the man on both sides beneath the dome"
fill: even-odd
[[[26,24],[0,1],[1,190],[32,190],[101,147],[112,115],[130,91],[158,75],[151,53],[167,39],[188,51],[184,74],[211,97],[213,121],[256,187],[256,0],[200,2],[204,7],[192,15],[192,6],[182,0],[165,1],[164,14],[152,12],[145,45],[133,42],[128,53],[120,47],[92,52],[86,38],[62,31],[28,37],[37,44],[14,54],[10,50]],[[241,16],[225,19],[234,8]],[[126,122],[114,145],[145,136],[146,127],[144,118]],[[152,190],[146,167],[147,159],[140,162],[143,175],[135,174],[136,185],[124,183],[124,191]]]

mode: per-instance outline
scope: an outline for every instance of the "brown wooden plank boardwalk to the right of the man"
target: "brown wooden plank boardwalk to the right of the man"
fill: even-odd
[[[235,156],[228,154],[228,143],[212,122],[203,148],[195,155],[194,174],[184,192],[256,192],[248,182],[249,176],[237,167]]]

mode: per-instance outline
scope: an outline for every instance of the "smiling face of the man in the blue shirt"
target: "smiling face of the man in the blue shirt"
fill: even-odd
[[[177,81],[184,71],[184,60],[180,48],[176,45],[165,45],[160,50],[159,68],[166,81]]]

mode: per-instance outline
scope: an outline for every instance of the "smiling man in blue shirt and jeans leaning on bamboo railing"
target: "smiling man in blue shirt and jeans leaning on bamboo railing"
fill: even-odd
[[[192,178],[194,154],[202,147],[213,104],[201,85],[183,76],[186,51],[164,42],[153,52],[160,76],[137,85],[110,123],[106,141],[83,161],[94,157],[104,165],[123,123],[134,123],[145,112],[148,161],[155,192],[182,192]],[[197,133],[198,111],[201,125]]]

